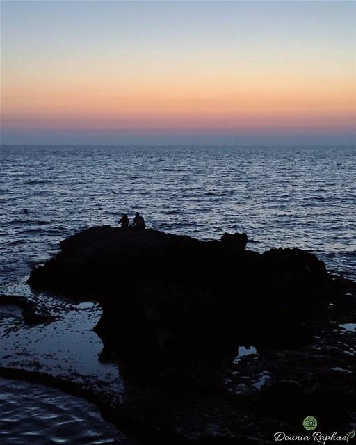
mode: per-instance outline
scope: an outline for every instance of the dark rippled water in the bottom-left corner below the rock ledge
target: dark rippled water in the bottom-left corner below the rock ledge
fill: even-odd
[[[127,444],[92,403],[61,391],[0,378],[1,445]]]

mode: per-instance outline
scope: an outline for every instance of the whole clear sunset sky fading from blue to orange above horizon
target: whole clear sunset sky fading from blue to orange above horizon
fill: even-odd
[[[1,143],[355,143],[355,24],[355,1],[1,1]]]

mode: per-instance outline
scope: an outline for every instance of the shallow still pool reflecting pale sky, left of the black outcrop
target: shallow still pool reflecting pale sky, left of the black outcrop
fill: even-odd
[[[24,323],[14,305],[0,305],[0,362],[3,366],[41,371],[86,385],[115,388],[118,401],[124,384],[115,364],[99,360],[102,341],[92,331],[102,315],[95,302],[71,302],[31,293],[29,286],[0,286],[0,293],[25,295],[45,307],[56,321],[36,326]],[[14,309],[11,312],[11,309]]]

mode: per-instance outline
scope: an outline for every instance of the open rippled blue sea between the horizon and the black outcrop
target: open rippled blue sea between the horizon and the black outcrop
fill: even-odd
[[[355,278],[355,184],[353,146],[3,145],[0,280],[24,277],[70,234],[135,211],[172,233],[246,232],[254,250],[307,249]]]

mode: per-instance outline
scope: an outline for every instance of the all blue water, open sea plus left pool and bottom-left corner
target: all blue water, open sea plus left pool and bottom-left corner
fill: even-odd
[[[67,236],[136,211],[165,232],[245,232],[251,250],[302,248],[356,280],[355,146],[2,145],[0,159],[0,293],[18,295]],[[60,321],[15,333],[3,309],[0,362],[12,354],[57,376],[69,363],[79,379],[120,387],[118,370],[97,359],[101,309],[63,305]],[[0,378],[0,413],[1,444],[131,444],[95,405],[30,382]]]

